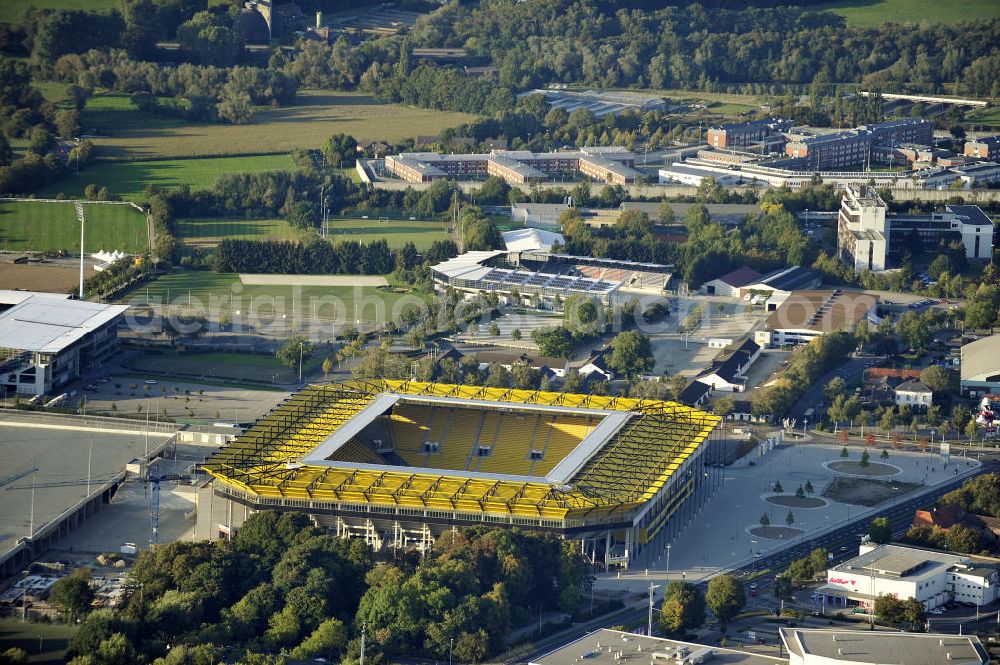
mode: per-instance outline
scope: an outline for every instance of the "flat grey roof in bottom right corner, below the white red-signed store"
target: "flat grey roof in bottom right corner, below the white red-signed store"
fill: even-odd
[[[785,647],[800,658],[878,665],[984,665],[989,662],[975,635],[781,628]]]

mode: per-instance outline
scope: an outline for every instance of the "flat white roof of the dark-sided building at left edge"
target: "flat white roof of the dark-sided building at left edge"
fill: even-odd
[[[115,319],[128,305],[70,300],[61,293],[0,291],[0,347],[59,353]]]

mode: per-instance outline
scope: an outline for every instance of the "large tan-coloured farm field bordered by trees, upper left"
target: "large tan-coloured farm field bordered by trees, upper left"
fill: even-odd
[[[367,95],[324,90],[300,91],[298,102],[261,110],[245,125],[185,123],[125,107],[88,110],[83,125],[103,134],[92,139],[101,157],[166,159],[318,148],[338,132],[359,141],[398,141],[418,134],[436,135],[475,117],[380,104]]]

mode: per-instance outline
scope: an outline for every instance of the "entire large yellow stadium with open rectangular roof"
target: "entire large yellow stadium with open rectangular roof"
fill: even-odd
[[[657,400],[352,381],[296,393],[204,468],[230,515],[301,510],[376,549],[457,526],[542,530],[627,567],[707,494],[718,423]]]

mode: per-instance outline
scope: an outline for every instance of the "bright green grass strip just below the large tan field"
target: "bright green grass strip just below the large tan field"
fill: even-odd
[[[189,185],[191,189],[206,189],[226,173],[257,173],[295,168],[289,155],[259,155],[255,157],[215,157],[202,159],[165,159],[150,162],[97,162],[80,173],[73,174],[40,195],[83,196],[84,188],[95,183],[107,187],[111,194],[129,201],[146,200],[146,185],[170,188]]]

